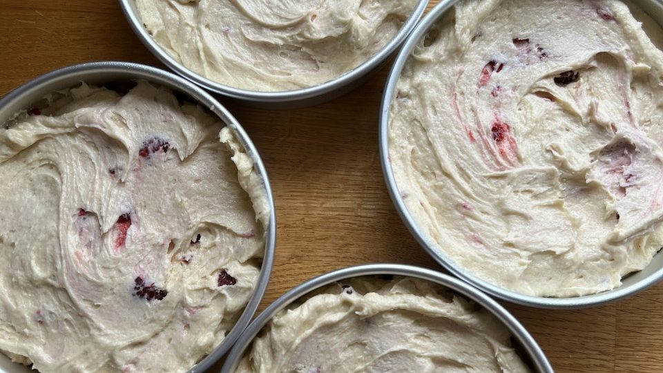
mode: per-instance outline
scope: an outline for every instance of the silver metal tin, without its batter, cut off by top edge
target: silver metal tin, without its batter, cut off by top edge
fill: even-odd
[[[390,55],[403,44],[407,35],[410,35],[412,29],[416,26],[416,22],[419,21],[419,18],[423,15],[423,12],[428,5],[428,0],[419,0],[412,11],[412,15],[410,15],[407,21],[403,23],[401,30],[398,31],[394,39],[387,43],[387,45],[376,53],[376,55],[367,59],[360,66],[330,80],[329,82],[317,86],[281,92],[261,92],[257,90],[235,88],[214,82],[198,73],[194,73],[192,70],[189,70],[189,68],[180,64],[177,59],[171,57],[171,55],[169,55],[164,48],[157,44],[153,37],[151,37],[138,16],[135,0],[119,0],[119,3],[120,6],[122,6],[124,15],[131,25],[131,28],[133,28],[138,38],[150,50],[150,52],[166,64],[166,66],[183,77],[186,77],[186,79],[191,80],[191,82],[211,90],[212,92],[232,97],[234,99],[240,99],[243,102],[253,104],[254,106],[264,108],[299,108],[327,102],[336,97],[340,97],[363,84],[363,82],[370,77],[370,73],[380,68],[387,57],[390,57]]]

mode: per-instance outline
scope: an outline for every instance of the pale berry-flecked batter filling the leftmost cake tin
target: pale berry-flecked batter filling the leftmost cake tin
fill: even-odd
[[[253,162],[147,82],[47,106],[0,129],[0,350],[44,373],[188,370],[260,272]]]

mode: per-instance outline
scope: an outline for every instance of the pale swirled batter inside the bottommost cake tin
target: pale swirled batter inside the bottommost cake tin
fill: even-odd
[[[490,312],[427,281],[334,284],[279,312],[245,372],[529,372]]]

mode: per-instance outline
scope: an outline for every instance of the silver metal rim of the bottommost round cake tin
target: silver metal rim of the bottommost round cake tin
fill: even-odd
[[[523,327],[523,325],[521,325],[521,323],[519,323],[506,309],[499,305],[499,303],[492,300],[489,296],[486,296],[486,294],[481,293],[481,291],[474,289],[474,287],[471,287],[456,278],[430,269],[414,267],[412,265],[370,264],[348,267],[323,274],[322,276],[308,280],[294,289],[291,289],[286,294],[283,294],[274,303],[269,305],[269,307],[267,307],[267,309],[265,309],[265,311],[263,311],[262,314],[251,323],[251,325],[249,325],[244,334],[240,336],[230,354],[228,354],[221,369],[221,373],[233,373],[235,371],[237,365],[244,356],[244,353],[251,347],[253,338],[258,335],[262,327],[267,325],[274,315],[282,309],[285,309],[289,304],[298,300],[302,296],[306,296],[311,291],[330,283],[352,277],[372,275],[394,275],[421,278],[422,280],[428,280],[432,283],[442,285],[465,298],[473,300],[477,305],[488,309],[491,314],[497,317],[497,319],[507,327],[518,344],[517,347],[521,347],[520,351],[523,354],[521,357],[526,363],[528,363],[528,365],[530,365],[530,367],[536,372],[553,372],[553,368],[550,366],[548,358],[546,358],[541,347],[539,347],[535,339],[532,338],[525,327]]]

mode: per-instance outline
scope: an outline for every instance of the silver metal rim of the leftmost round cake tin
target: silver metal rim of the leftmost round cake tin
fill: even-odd
[[[173,73],[169,73],[159,68],[117,61],[91,62],[88,64],[79,64],[61,68],[52,71],[51,73],[41,75],[40,77],[19,86],[0,99],[0,124],[6,123],[19,111],[30,108],[32,104],[39,102],[39,100],[43,99],[46,95],[58,90],[79,86],[81,82],[104,85],[109,88],[115,86],[128,86],[131,88],[128,84],[133,85],[133,82],[139,79],[170,88],[176,95],[180,95],[180,97],[184,97],[184,99],[189,102],[198,103],[203,108],[209,109],[213,115],[218,116],[222,122],[229,126],[244,147],[244,150],[255,162],[256,171],[264,181],[265,191],[267,192],[267,202],[271,209],[269,213],[269,224],[265,229],[265,254],[264,258],[262,258],[262,267],[260,269],[260,276],[258,276],[256,288],[236,325],[231,329],[222,343],[189,370],[190,373],[204,372],[230,350],[233,343],[235,343],[240,334],[242,334],[247,325],[249,325],[253,314],[255,314],[256,309],[258,309],[262,296],[265,294],[265,289],[267,289],[267,283],[269,282],[271,267],[273,265],[274,246],[276,243],[276,217],[274,213],[271,187],[269,186],[267,171],[265,171],[265,166],[262,164],[258,151],[256,150],[256,147],[253,146],[253,143],[249,139],[249,135],[247,135],[242,126],[240,126],[231,113],[219,104],[216,99],[188,80],[182,79],[182,77],[178,77]],[[24,365],[12,363],[6,355],[1,353],[0,371],[10,373],[34,372]]]

